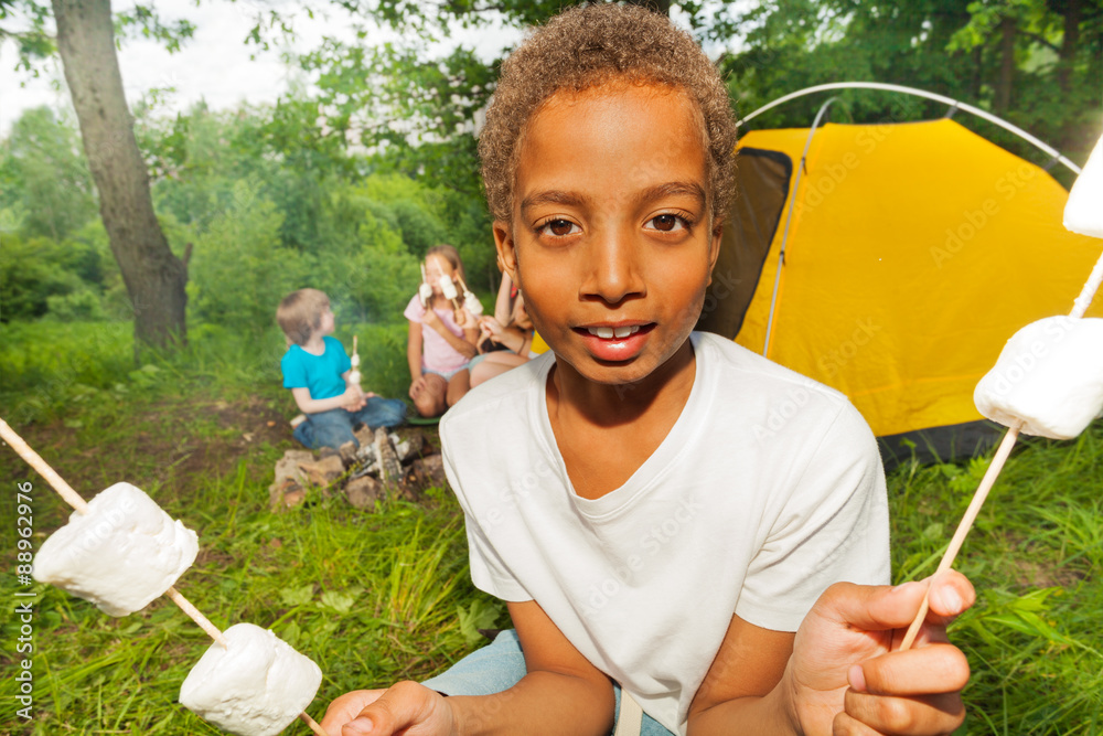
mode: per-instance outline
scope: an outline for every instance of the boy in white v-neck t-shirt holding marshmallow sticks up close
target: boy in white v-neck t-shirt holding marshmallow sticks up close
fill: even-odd
[[[693,332],[732,189],[722,81],[639,7],[571,8],[503,64],[479,150],[505,269],[552,352],[440,425],[474,584],[515,631],[355,691],[372,734],[947,734],[968,664],[889,582],[877,447],[842,394]],[[791,408],[790,408],[791,407]],[[767,419],[788,417],[783,427]],[[355,644],[351,644],[355,646]]]

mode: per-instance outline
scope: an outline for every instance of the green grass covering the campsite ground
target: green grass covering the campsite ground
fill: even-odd
[[[368,385],[405,395],[404,327],[355,329]],[[346,345],[351,335],[339,330]],[[131,354],[129,326],[2,326],[0,416],[86,498],[130,480],[199,532],[201,557],[178,587],[217,626],[271,627],[317,661],[325,679],[315,716],[347,690],[438,671],[478,646],[476,627],[505,622],[503,606],[471,586],[462,515],[447,490],[374,513],[339,498],[268,510],[272,463],[292,446],[283,420],[295,413],[279,386],[278,334],[199,326],[185,351],[154,356],[152,367],[136,371]],[[934,569],[986,467],[986,458],[906,463],[890,476],[898,582]],[[4,520],[14,518],[15,482],[34,483],[41,544],[67,509],[7,449],[0,478]],[[14,551],[6,521],[0,732],[218,733],[175,702],[208,640],[174,606],[159,600],[115,619],[39,585],[30,588],[35,719],[19,721]],[[978,590],[952,630],[973,668],[967,733],[1103,732],[1101,563],[1103,424],[1072,442],[1022,441],[956,565]]]

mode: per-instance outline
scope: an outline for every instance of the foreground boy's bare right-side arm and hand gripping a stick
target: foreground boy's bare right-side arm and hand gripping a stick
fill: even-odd
[[[732,618],[732,626],[689,707],[690,736],[710,734],[949,734],[965,719],[965,655],[946,639],[946,623],[975,594],[954,572],[931,584],[931,611],[914,649],[900,640],[925,587],[836,583],[816,601],[778,675],[782,649],[743,672],[754,647],[777,632]],[[749,628],[748,628],[749,627]],[[746,639],[746,646],[740,643]],[[757,681],[752,684],[751,681]],[[758,687],[777,684],[760,695]]]

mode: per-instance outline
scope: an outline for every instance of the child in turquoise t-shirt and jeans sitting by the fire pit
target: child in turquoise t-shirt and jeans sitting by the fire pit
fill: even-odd
[[[364,393],[349,381],[352,362],[333,334],[330,298],[318,289],[299,289],[283,297],[276,321],[288,339],[280,360],[283,387],[291,390],[307,420],[295,428],[295,438],[309,447],[360,447],[353,428],[394,427],[406,420],[406,404]]]

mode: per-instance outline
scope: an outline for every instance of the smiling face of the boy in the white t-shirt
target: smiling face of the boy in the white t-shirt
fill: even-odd
[[[494,235],[537,331],[590,381],[646,377],[700,313],[720,235],[692,105],[614,82],[529,121],[513,223]]]

